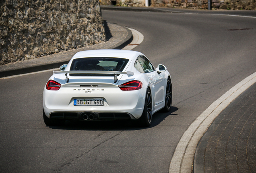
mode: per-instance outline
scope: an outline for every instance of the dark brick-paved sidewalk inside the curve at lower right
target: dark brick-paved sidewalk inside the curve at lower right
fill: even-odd
[[[213,121],[198,143],[193,171],[256,172],[256,83]]]

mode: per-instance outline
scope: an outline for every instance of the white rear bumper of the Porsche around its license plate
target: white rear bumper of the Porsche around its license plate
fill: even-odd
[[[91,93],[85,93],[80,88],[80,86],[66,87],[60,88],[60,91],[44,89],[43,109],[46,117],[81,120],[83,112],[93,113],[97,120],[127,117],[138,119],[142,115],[146,93],[144,88],[136,91],[121,91],[119,87],[105,87],[104,89],[97,87],[99,91]],[[104,103],[103,106],[75,106],[74,99],[103,99]]]

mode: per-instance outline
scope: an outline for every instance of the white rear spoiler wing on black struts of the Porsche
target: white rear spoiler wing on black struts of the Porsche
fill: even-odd
[[[127,74],[129,77],[134,75],[134,72],[127,71],[127,72],[119,72],[119,71],[53,71],[53,74],[65,74],[67,78],[67,83],[68,83],[68,74],[113,74],[114,75],[114,80],[116,83],[118,81],[117,74]]]

